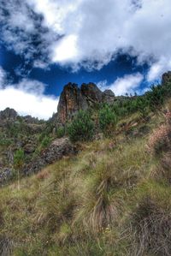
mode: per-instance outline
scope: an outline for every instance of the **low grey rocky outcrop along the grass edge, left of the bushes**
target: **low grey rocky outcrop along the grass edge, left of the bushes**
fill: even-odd
[[[76,153],[75,146],[68,140],[68,138],[56,139],[51,145],[41,152],[41,156],[33,159],[30,164],[26,164],[23,168],[25,175],[38,172],[48,164],[53,164],[63,156],[69,156]]]

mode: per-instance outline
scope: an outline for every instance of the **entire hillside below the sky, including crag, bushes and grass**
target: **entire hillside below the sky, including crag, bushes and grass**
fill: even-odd
[[[1,112],[1,255],[171,255],[170,81],[69,84],[48,122]]]

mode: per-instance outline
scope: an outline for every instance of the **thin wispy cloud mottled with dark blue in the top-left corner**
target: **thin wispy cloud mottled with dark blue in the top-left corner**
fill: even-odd
[[[0,0],[0,37],[3,44],[25,58],[28,65],[44,68],[50,59],[51,42],[58,34],[43,25],[43,16],[36,13],[26,0]],[[24,74],[24,70],[22,71]]]

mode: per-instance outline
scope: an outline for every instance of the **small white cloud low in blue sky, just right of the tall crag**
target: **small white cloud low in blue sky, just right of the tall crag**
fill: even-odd
[[[97,86],[101,90],[110,89],[115,95],[124,95],[126,93],[135,92],[139,89],[140,83],[144,80],[144,76],[140,73],[136,74],[126,74],[121,78],[117,78],[114,83],[108,85],[107,80],[103,80],[97,83]]]

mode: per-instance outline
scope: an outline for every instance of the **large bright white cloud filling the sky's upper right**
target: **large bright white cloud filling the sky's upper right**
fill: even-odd
[[[29,0],[28,3],[44,15],[45,26],[64,35],[59,43],[51,45],[54,62],[81,63],[88,69],[100,69],[121,49],[138,56],[139,63],[148,61],[157,65],[162,58],[171,61],[170,0],[45,0],[44,3]],[[154,69],[150,69],[150,79],[161,74]]]

